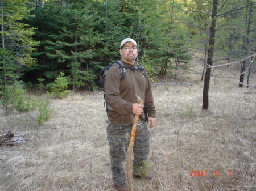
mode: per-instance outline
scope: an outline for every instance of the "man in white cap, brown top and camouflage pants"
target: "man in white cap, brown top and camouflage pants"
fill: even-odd
[[[130,38],[121,42],[120,62],[127,67],[137,67],[135,59],[138,56],[137,43]],[[126,184],[125,162],[129,147],[131,127],[134,115],[140,115],[133,147],[133,177],[150,179],[145,174],[144,162],[150,152],[149,128],[155,126],[155,106],[147,74],[139,70],[125,70],[125,79],[121,79],[119,66],[112,66],[105,75],[105,99],[108,108],[107,139],[110,146],[110,163],[114,189],[129,191]],[[144,100],[138,104],[137,96]],[[144,106],[147,109],[148,121],[145,122]]]

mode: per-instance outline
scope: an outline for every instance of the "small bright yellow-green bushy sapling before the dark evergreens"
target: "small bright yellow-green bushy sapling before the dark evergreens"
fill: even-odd
[[[68,78],[64,77],[64,73],[60,73],[59,77],[55,79],[55,83],[51,86],[51,95],[56,98],[62,99],[64,97],[68,97],[71,90],[67,90],[68,88]]]

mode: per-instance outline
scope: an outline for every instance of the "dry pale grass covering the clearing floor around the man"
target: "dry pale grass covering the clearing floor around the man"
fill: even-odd
[[[238,88],[231,71],[213,77],[210,109],[202,111],[201,76],[181,74],[176,82],[191,86],[152,85],[158,116],[150,130],[149,162],[157,175],[133,180],[134,190],[255,191],[255,89]],[[80,92],[52,100],[55,113],[40,128],[38,111],[7,115],[0,110],[0,134],[11,129],[28,139],[0,147],[0,190],[113,190],[102,97],[101,91]],[[192,177],[191,171],[207,174]]]

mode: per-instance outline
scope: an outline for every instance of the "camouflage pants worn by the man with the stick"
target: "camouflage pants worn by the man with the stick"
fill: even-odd
[[[125,163],[129,148],[131,124],[117,125],[108,121],[107,139],[110,148],[110,163],[114,184],[126,181]],[[150,133],[146,122],[137,126],[133,146],[133,167],[143,169],[144,161],[150,152]],[[134,169],[133,169],[134,171]]]

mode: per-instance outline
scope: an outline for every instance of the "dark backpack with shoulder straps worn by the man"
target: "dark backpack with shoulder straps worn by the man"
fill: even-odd
[[[106,73],[108,72],[108,70],[110,69],[110,67],[116,65],[116,66],[119,66],[120,70],[121,70],[121,73],[122,73],[122,77],[121,77],[121,82],[123,79],[125,79],[125,69],[130,69],[130,70],[133,70],[133,72],[135,73],[135,70],[139,70],[141,71],[141,73],[143,75],[146,75],[146,72],[144,71],[144,67],[142,65],[140,65],[138,62],[135,62],[137,64],[138,67],[127,67],[127,66],[124,66],[122,62],[120,61],[117,61],[115,63],[113,63],[112,65],[109,65],[109,66],[106,66],[103,70],[101,70],[100,72],[100,81],[98,81],[103,87],[104,87],[104,82],[105,82],[105,75]],[[104,88],[103,88],[103,91],[104,91]],[[105,94],[104,94],[104,97],[103,97],[103,102],[104,102],[104,105],[103,107],[105,107]],[[108,109],[112,109],[110,107],[106,107],[106,111],[108,112]],[[147,111],[146,111],[146,107],[144,107],[144,112],[146,114],[146,121],[147,121]]]

